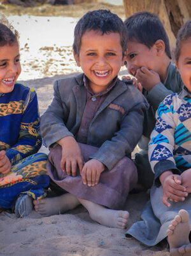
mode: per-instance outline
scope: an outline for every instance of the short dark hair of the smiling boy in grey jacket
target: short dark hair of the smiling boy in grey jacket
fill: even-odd
[[[101,31],[102,34],[117,32],[120,34],[123,55],[127,50],[127,32],[122,19],[109,10],[88,11],[76,24],[74,29],[73,50],[76,55],[80,53],[81,37],[86,31]]]

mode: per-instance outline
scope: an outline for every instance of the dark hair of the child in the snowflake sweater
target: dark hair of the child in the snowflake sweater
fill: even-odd
[[[181,43],[191,39],[191,19],[187,20],[187,22],[181,27],[180,31],[178,31],[177,39],[176,39],[176,48],[174,51],[174,57],[176,62],[180,57]]]

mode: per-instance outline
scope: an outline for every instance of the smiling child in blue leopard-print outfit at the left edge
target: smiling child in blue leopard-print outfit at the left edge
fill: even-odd
[[[27,216],[32,198],[45,196],[46,155],[41,147],[36,92],[17,83],[20,75],[18,33],[0,20],[0,208]],[[36,153],[36,154],[34,154]]]

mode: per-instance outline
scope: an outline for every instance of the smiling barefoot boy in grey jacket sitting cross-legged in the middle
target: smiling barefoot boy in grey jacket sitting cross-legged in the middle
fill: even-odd
[[[124,24],[108,10],[88,12],[76,25],[74,58],[83,73],[55,82],[52,104],[41,117],[50,147],[48,173],[61,196],[34,201],[38,213],[59,214],[83,204],[100,224],[127,225],[129,213],[120,210],[137,182],[127,156],[141,137],[148,104],[117,78],[126,49]]]

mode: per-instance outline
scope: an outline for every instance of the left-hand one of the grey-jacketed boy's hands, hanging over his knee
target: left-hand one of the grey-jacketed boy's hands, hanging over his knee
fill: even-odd
[[[67,136],[57,141],[62,146],[62,159],[60,166],[63,171],[66,171],[67,175],[72,173],[72,176],[76,176],[77,165],[81,170],[83,168],[83,156],[81,155],[80,146],[72,136]]]

